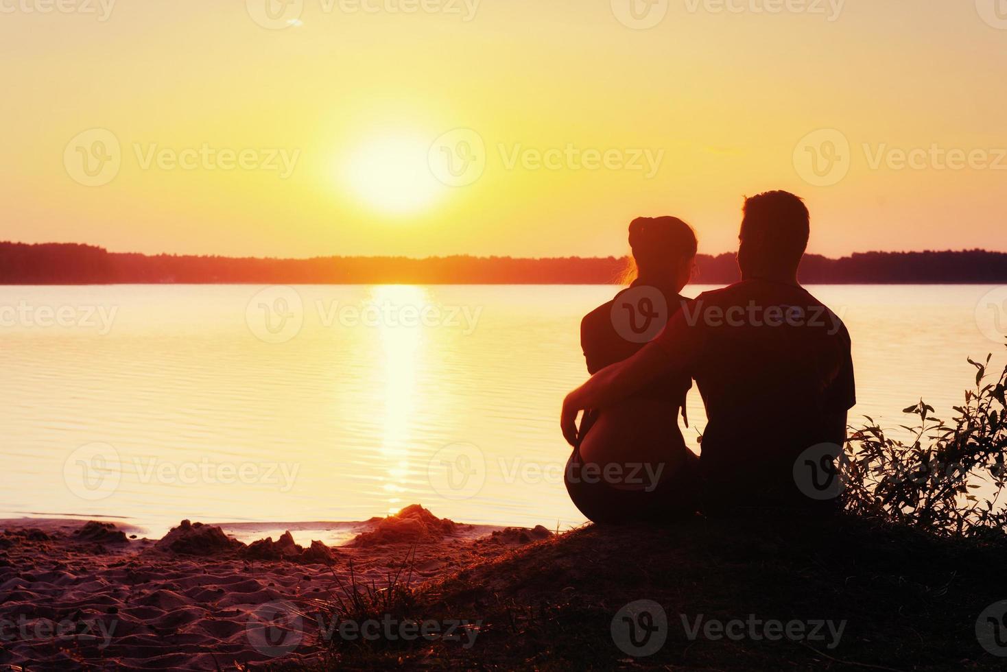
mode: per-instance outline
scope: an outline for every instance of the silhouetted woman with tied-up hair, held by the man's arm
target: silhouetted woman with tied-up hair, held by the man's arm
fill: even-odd
[[[629,224],[629,246],[626,276],[635,279],[581,322],[592,375],[635,354],[687,301],[679,293],[696,260],[692,227],[677,217],[639,217]],[[655,319],[656,327],[648,324]],[[584,413],[565,479],[581,513],[617,524],[694,510],[699,458],[686,448],[678,426],[691,386],[688,377],[661,379],[618,405]]]

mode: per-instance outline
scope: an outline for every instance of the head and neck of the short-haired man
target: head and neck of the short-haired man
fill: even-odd
[[[767,191],[746,199],[743,211],[741,277],[796,281],[810,233],[805,202],[786,191]]]

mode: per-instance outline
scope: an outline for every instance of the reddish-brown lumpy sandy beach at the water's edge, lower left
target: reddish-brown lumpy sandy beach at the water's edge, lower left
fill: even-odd
[[[160,539],[98,521],[0,521],[0,664],[12,669],[246,669],[310,663],[323,606],[350,585],[420,585],[551,536],[420,506],[355,523],[203,525]],[[341,543],[336,543],[342,540]],[[321,624],[321,628],[319,625]]]

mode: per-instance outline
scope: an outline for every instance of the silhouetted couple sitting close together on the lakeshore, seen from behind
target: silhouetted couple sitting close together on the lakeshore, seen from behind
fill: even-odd
[[[693,229],[676,217],[629,225],[636,278],[584,318],[592,377],[563,403],[574,447],[566,485],[585,516],[618,524],[739,506],[834,507],[810,497],[795,470],[809,449],[843,445],[855,403],[846,327],[798,283],[809,219],[790,193],[747,199],[741,282],[694,300],[680,294],[695,263]],[[693,380],[708,419],[699,457],[678,425]]]

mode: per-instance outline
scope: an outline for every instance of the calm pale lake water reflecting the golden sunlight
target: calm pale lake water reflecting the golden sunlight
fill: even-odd
[[[810,289],[853,337],[854,421],[897,426],[921,396],[947,416],[967,356],[1004,361],[1007,290]],[[422,503],[471,523],[582,523],[559,405],[586,377],[580,319],[614,292],[0,287],[0,517],[118,516],[159,534]],[[702,429],[695,389],[689,406]]]

